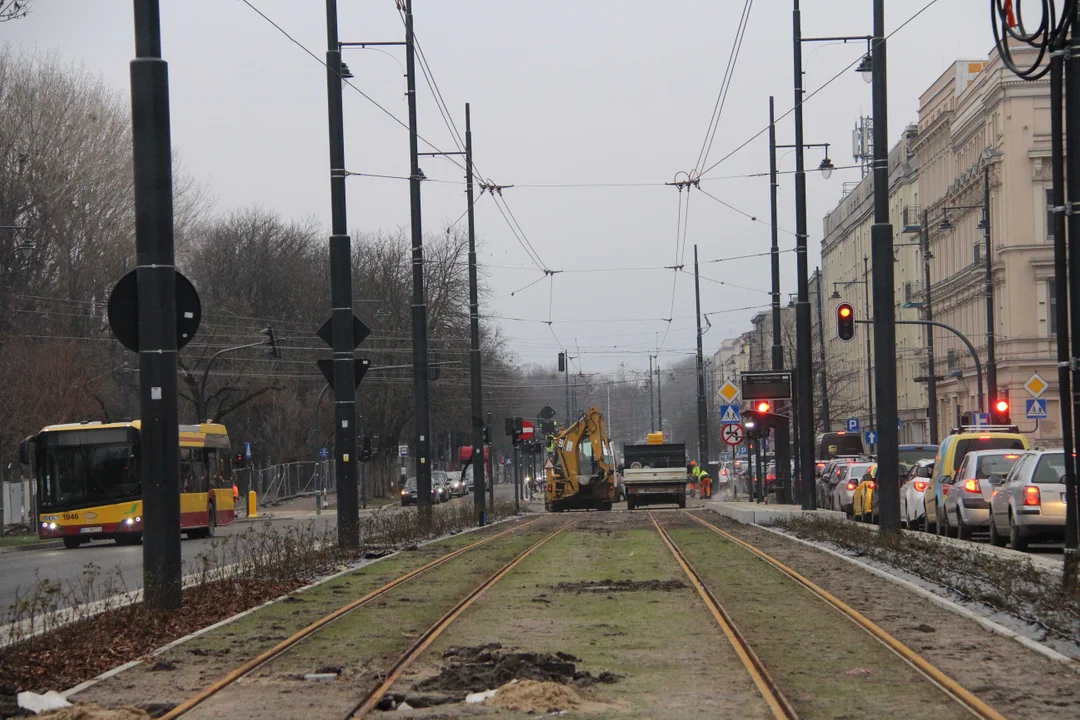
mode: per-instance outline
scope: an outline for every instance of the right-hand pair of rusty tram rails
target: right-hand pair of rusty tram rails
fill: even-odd
[[[766,563],[768,563],[770,567],[772,567],[777,571],[781,572],[782,574],[786,575],[788,579],[791,579],[791,580],[795,581],[797,584],[801,585],[811,595],[815,596],[822,602],[824,602],[828,607],[831,607],[834,610],[836,610],[846,620],[854,623],[858,627],[860,627],[861,629],[863,629],[866,634],[868,634],[875,640],[877,640],[882,646],[885,646],[889,651],[891,651],[893,654],[895,654],[897,657],[900,657],[903,662],[905,662],[907,665],[909,665],[912,668],[914,668],[916,670],[916,673],[918,673],[919,675],[921,675],[927,681],[929,681],[932,685],[934,685],[939,690],[941,690],[946,696],[948,696],[950,699],[953,699],[954,702],[956,702],[961,708],[963,708],[964,710],[967,710],[968,712],[970,712],[972,716],[974,716],[976,718],[982,718],[984,720],[1005,720],[1005,718],[1004,718],[1003,715],[1001,715],[1000,712],[998,712],[997,710],[995,710],[993,707],[990,707],[989,705],[987,705],[985,702],[983,702],[982,699],[980,699],[971,691],[969,691],[966,688],[963,688],[960,683],[958,683],[956,680],[954,680],[948,675],[946,675],[945,673],[943,673],[941,669],[939,669],[936,666],[934,666],[928,660],[926,660],[924,657],[922,657],[919,653],[917,653],[914,650],[912,650],[909,647],[907,647],[906,644],[904,644],[903,642],[901,642],[900,640],[897,640],[895,637],[893,637],[891,634],[889,634],[886,629],[883,629],[882,627],[880,627],[879,625],[877,625],[876,623],[874,623],[872,620],[869,620],[868,617],[866,617],[865,615],[863,615],[862,613],[860,613],[858,610],[855,610],[851,606],[847,604],[846,602],[843,602],[842,600],[840,600],[839,598],[837,598],[836,596],[834,596],[833,594],[831,594],[828,590],[826,590],[823,587],[816,585],[815,583],[813,583],[812,581],[810,581],[809,579],[807,579],[806,576],[804,576],[802,574],[800,574],[796,570],[789,568],[788,566],[786,566],[783,562],[781,562],[780,560],[775,559],[774,557],[772,557],[768,553],[766,553],[766,552],[759,549],[758,547],[754,546],[752,543],[748,543],[748,542],[742,540],[741,538],[737,538],[735,535],[731,534],[730,532],[727,532],[726,530],[717,527],[716,525],[710,522],[708,520],[705,520],[704,518],[699,517],[698,515],[696,515],[694,513],[692,513],[690,511],[679,511],[679,514],[681,516],[686,516],[686,517],[690,518],[691,520],[693,520],[698,525],[700,525],[700,526],[708,529],[710,531],[716,533],[717,535],[719,535],[724,540],[727,540],[727,541],[729,541],[731,543],[734,543],[735,545],[742,547],[743,549],[752,553],[754,556],[756,556],[757,558],[764,560]],[[650,513],[650,516],[652,514]],[[678,552],[677,546],[674,544],[674,541],[670,540],[670,538],[666,535],[666,531],[660,526],[659,522],[657,522],[657,520],[656,520],[654,517],[652,518],[652,521],[657,526],[657,529],[658,529],[658,531],[660,531],[661,535],[663,535],[665,538],[665,542],[669,543],[669,546],[672,548],[672,552],[674,554],[676,554],[676,557],[679,557],[681,554]],[[684,563],[684,562],[685,562],[684,571],[686,571],[687,574],[691,576],[691,581],[694,582],[694,585],[697,586],[698,582],[700,581],[700,576],[698,575],[697,570],[694,570],[693,566],[690,565],[690,562],[688,560],[686,560],[685,556],[681,557],[680,565]],[[694,581],[694,578],[699,578],[699,581]],[[712,598],[712,601],[715,601],[715,597],[713,596],[713,594],[711,592],[708,592],[707,586],[705,586],[704,583],[701,583],[701,586],[699,587],[699,594],[702,594],[702,598],[703,599],[706,597],[706,594],[707,594],[708,598]],[[718,602],[716,603],[716,608],[715,609],[711,606],[711,601],[707,600],[707,599],[706,599],[706,604],[710,604],[710,610],[713,611],[714,616],[717,615],[717,612],[719,612],[723,615],[726,615],[726,612],[723,610],[721,607],[719,607]],[[717,622],[719,622],[719,620]],[[723,627],[723,625],[721,625],[721,627]],[[731,627],[733,628],[734,625],[731,624]],[[727,634],[727,630],[725,630],[725,633]],[[731,639],[730,635],[729,635],[729,639]],[[745,642],[745,638],[742,638],[741,642]],[[734,640],[732,640],[732,644],[733,646],[735,644]],[[746,647],[748,649],[748,644]],[[753,655],[753,651],[752,650],[750,651],[748,654],[750,654],[751,657],[756,657],[756,655]],[[742,655],[740,655],[740,656],[742,657]],[[744,665],[745,664],[746,664],[746,661],[744,661]],[[750,667],[747,667],[747,670],[750,670]],[[754,673],[752,671],[751,675],[754,676]],[[764,677],[767,678],[768,675],[766,674]],[[758,688],[760,689],[761,684],[758,682],[758,679],[756,677],[755,677],[755,682],[758,683]],[[762,696],[764,695],[766,695],[766,691],[765,690],[762,690]],[[768,702],[769,698],[766,697],[766,699]],[[772,708],[772,707],[773,706],[770,703],[770,708]],[[774,715],[775,715],[775,710],[774,710]],[[778,717],[778,718],[794,718],[794,717],[797,717],[797,716],[795,716],[795,715],[775,715],[775,717]]]

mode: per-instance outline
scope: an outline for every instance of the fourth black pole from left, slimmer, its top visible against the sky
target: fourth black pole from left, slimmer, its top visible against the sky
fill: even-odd
[[[472,394],[473,505],[476,525],[487,522],[484,511],[484,386],[481,382],[480,291],[476,279],[476,223],[473,216],[472,113],[465,103],[465,203],[469,215],[469,385]]]

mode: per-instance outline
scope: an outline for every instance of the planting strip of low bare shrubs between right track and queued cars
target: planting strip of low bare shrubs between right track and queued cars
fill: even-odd
[[[1048,639],[1077,642],[1080,638],[1080,588],[1066,592],[1058,574],[1040,570],[1027,558],[989,556],[930,536],[874,532],[840,520],[794,517],[777,527],[947,587],[966,600],[1037,625]]]

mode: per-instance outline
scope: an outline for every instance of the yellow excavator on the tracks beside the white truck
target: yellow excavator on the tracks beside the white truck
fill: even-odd
[[[611,510],[615,457],[600,411],[589,408],[581,419],[555,436],[554,446],[544,507],[551,513]]]

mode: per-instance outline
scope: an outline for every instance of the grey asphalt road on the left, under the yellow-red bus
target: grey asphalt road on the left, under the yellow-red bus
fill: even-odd
[[[496,493],[502,497],[513,497],[513,487],[500,485],[496,487]],[[465,502],[469,499],[455,499],[450,502]],[[313,507],[312,499],[298,500],[276,507],[268,507],[264,512],[268,515],[279,514],[278,517],[266,517],[265,520],[274,525],[288,525],[299,522],[315,521],[320,527],[334,527],[336,525],[335,508],[323,511],[320,516],[308,515],[306,517],[285,517],[283,513],[296,511],[309,511]],[[397,505],[391,505],[391,508]],[[361,511],[362,514],[373,511]],[[231,525],[219,527],[217,536],[226,536],[244,532],[254,522],[261,522],[264,519],[252,522],[238,521]],[[210,548],[211,539],[189,540],[184,536],[180,541],[180,553],[184,563],[187,567],[192,563],[200,553]],[[127,589],[137,589],[143,585],[143,546],[141,545],[117,545],[110,541],[96,541],[82,545],[78,549],[40,548],[22,551],[17,553],[0,554],[0,619],[3,611],[18,598],[21,593],[33,587],[40,580],[58,581],[66,586],[67,583],[79,579],[86,566],[93,563],[103,573],[120,570]],[[0,624],[2,624],[0,620]]]

